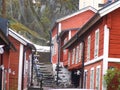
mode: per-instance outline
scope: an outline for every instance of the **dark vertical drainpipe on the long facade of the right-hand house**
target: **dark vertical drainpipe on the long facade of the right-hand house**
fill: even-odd
[[[81,59],[82,59],[82,69],[81,69],[81,88],[83,88],[83,78],[84,78],[84,60],[85,60],[85,58],[84,58],[84,55],[85,55],[85,42],[84,41],[82,41],[82,46],[83,46],[83,49],[82,49],[82,56],[81,56]]]

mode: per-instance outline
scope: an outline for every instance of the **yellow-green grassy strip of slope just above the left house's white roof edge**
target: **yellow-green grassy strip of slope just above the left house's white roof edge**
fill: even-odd
[[[42,45],[46,42],[46,40],[40,37],[34,30],[27,28],[13,18],[9,19],[9,27],[36,44]]]

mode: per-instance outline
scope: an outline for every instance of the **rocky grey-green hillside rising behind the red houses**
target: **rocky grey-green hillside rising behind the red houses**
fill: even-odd
[[[78,1],[0,0],[0,15],[4,12],[10,27],[18,33],[36,44],[47,45],[55,20],[78,10]]]

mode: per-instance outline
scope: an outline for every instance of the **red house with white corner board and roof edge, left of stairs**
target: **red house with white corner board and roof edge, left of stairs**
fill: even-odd
[[[9,68],[14,74],[9,74],[9,90],[27,90],[31,84],[33,44],[9,29],[9,39],[16,47],[16,52],[10,50]]]

